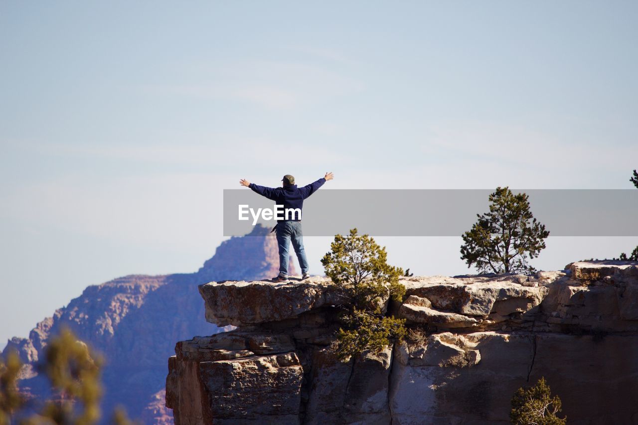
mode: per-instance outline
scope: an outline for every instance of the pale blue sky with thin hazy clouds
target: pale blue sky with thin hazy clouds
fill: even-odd
[[[197,271],[241,178],[632,188],[637,20],[632,1],[0,3],[0,348],[87,285]],[[460,235],[377,241],[415,274],[473,271]],[[311,273],[329,243],[305,239]],[[637,244],[549,237],[532,264]]]

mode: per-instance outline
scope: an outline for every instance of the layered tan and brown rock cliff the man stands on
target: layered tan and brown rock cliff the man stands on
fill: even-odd
[[[540,377],[569,423],[638,423],[637,263],[402,283],[389,311],[410,338],[347,362],[330,350],[344,301],[329,281],[200,285],[207,320],[238,328],[177,343],[175,423],[505,424]]]

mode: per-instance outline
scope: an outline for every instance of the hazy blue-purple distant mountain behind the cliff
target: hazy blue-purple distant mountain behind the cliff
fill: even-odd
[[[276,276],[277,241],[269,232],[258,225],[246,236],[222,242],[195,273],[135,274],[87,287],[68,306],[38,323],[29,338],[8,341],[3,355],[15,349],[26,363],[20,388],[36,398],[47,396],[47,380],[34,364],[43,358],[47,339],[66,325],[105,357],[105,419],[115,405],[122,405],[130,417],[145,424],[172,423],[163,394],[167,358],[174,354],[175,343],[223,331],[206,322],[197,285]],[[290,274],[295,274],[292,259],[290,267]]]

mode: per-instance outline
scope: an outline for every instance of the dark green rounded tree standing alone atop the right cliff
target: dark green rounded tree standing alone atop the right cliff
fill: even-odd
[[[461,259],[479,273],[533,272],[529,258],[538,257],[549,236],[530,211],[528,195],[514,195],[507,187],[489,195],[489,213],[463,234]]]

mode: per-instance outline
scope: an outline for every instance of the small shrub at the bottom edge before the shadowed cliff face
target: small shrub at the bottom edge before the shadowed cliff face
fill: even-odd
[[[560,398],[552,397],[549,385],[541,377],[535,387],[519,388],[514,393],[510,421],[514,425],[564,425],[567,416],[562,419],[556,416],[560,411]]]

